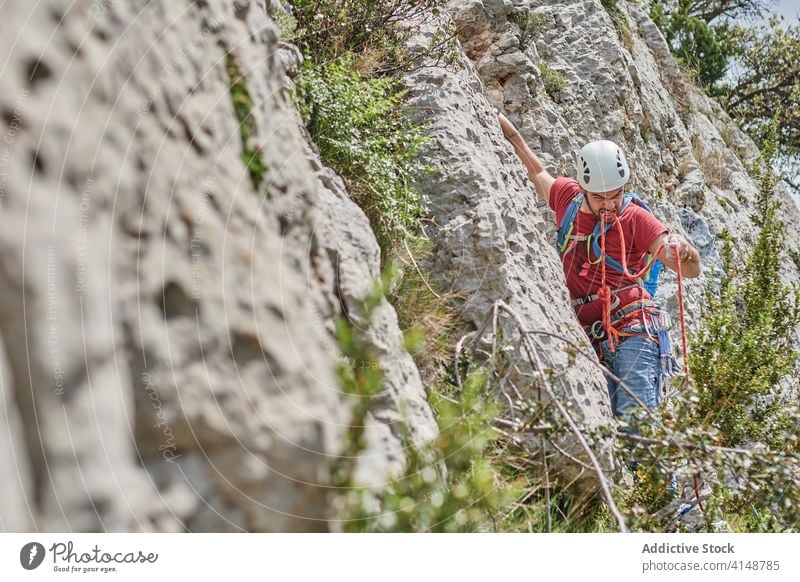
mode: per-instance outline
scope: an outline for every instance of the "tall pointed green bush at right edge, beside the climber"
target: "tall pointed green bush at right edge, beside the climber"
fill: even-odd
[[[762,152],[756,212],[750,217],[759,229],[755,248],[737,262],[731,237],[723,237],[721,284],[706,291],[689,358],[696,420],[718,428],[728,445],[755,440],[783,446],[790,436],[778,391],[798,358],[792,338],[800,324],[800,295],[781,280],[787,249],[771,170],[774,139]]]

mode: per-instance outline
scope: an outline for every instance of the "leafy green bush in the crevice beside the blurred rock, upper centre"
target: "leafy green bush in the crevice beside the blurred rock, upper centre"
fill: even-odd
[[[384,251],[419,229],[422,210],[412,180],[426,169],[418,156],[428,138],[403,114],[402,97],[397,81],[362,77],[350,57],[307,64],[297,83],[298,108],[322,161],[345,179]]]

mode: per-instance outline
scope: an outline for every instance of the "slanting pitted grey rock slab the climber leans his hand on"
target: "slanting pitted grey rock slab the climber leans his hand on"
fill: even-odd
[[[470,22],[489,30],[488,20]],[[429,39],[430,35],[421,34],[416,41]],[[519,316],[525,330],[550,334],[531,336],[538,357],[553,372],[559,400],[570,407],[571,416],[587,433],[595,432],[611,419],[608,391],[570,307],[561,263],[548,241],[552,212],[540,207],[543,203],[503,137],[494,108],[466,59],[455,70],[420,68],[410,76],[409,85],[409,108],[430,127],[434,139],[429,155],[435,171],[420,188],[433,219],[427,234],[435,242],[431,271],[439,286],[464,299],[461,320],[473,331],[492,318],[495,303],[502,301]],[[502,337],[518,339],[517,322],[501,315]],[[591,358],[570,357],[575,346]],[[530,374],[535,364],[518,352],[522,374]],[[520,376],[515,384],[527,398],[535,397],[524,388],[531,385],[530,379]],[[574,455],[583,456],[574,436],[565,429],[559,438]],[[608,470],[608,442],[595,443],[594,452]],[[553,468],[565,473],[568,481],[595,478],[571,461],[558,466],[559,460],[563,457],[554,459]]]

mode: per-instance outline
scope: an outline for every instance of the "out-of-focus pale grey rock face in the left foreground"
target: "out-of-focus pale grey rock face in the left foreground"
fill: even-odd
[[[379,251],[287,105],[292,51],[259,2],[63,10],[17,3],[0,41],[0,527],[330,529],[333,319]],[[358,469],[376,484],[399,422],[436,425],[391,306],[365,333],[388,378]]]

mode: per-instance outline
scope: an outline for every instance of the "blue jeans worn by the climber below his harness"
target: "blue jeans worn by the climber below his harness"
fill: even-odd
[[[622,330],[624,331],[624,329]],[[643,336],[625,338],[621,344],[608,349],[604,341],[601,363],[616,374],[625,386],[641,400],[647,408],[655,408],[661,400],[661,365],[658,344]],[[608,378],[608,395],[614,416],[626,416],[639,406],[628,392],[617,382]]]

